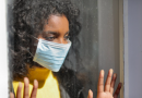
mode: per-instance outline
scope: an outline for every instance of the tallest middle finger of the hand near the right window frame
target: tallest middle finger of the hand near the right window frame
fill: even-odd
[[[107,74],[107,79],[105,83],[105,91],[109,91],[109,89],[110,89],[111,75],[113,75],[113,69],[110,69]]]

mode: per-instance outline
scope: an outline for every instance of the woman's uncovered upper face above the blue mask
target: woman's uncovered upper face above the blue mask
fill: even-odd
[[[69,22],[64,15],[50,15],[38,38],[58,44],[68,44]]]

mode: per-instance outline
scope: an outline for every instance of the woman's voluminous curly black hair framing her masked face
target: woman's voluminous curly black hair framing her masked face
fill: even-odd
[[[66,15],[69,21],[71,49],[75,50],[79,46],[76,36],[81,30],[78,21],[80,11],[70,0],[15,0],[8,12],[9,60],[14,78],[26,76],[27,64],[29,68],[35,64],[29,53],[33,44],[29,35],[37,37],[50,15]]]

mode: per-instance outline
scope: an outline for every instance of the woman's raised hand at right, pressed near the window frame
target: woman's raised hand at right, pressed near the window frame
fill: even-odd
[[[111,79],[113,76],[113,79]],[[116,83],[117,75],[113,75],[113,70],[109,70],[107,79],[105,83],[105,90],[104,90],[104,71],[102,70],[99,73],[98,84],[97,84],[97,97],[96,98],[117,98],[121,88],[121,83],[118,84],[118,87],[113,96],[114,87]],[[87,98],[93,98],[92,90],[88,90]]]

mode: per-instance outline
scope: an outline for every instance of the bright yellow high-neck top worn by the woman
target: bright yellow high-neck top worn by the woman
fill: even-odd
[[[54,76],[50,70],[43,69],[43,68],[32,69],[29,70],[29,75],[27,77],[29,79],[29,94],[32,93],[33,89],[34,79],[38,81],[38,89],[37,89],[36,98],[60,98],[58,81]],[[22,83],[22,95],[23,95],[23,89],[24,89],[23,81],[21,81],[21,83]],[[13,88],[15,95],[16,95],[17,86],[19,86],[19,82],[13,81]]]

